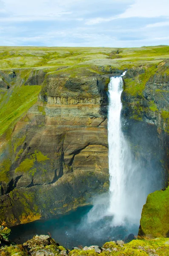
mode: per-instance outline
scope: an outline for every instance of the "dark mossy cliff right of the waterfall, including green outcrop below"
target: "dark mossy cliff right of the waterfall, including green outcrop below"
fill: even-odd
[[[169,173],[168,67],[169,62],[162,61],[129,70],[122,96],[122,114],[132,150],[149,166],[150,179],[162,178],[163,187],[168,185]],[[139,236],[168,236],[168,212],[168,188],[150,194],[143,207]]]

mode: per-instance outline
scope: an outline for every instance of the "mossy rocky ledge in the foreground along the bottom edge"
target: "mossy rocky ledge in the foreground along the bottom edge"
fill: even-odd
[[[169,238],[136,239],[129,243],[122,240],[106,242],[102,247],[74,247],[72,250],[60,246],[46,235],[36,235],[23,244],[8,240],[10,229],[0,227],[0,256],[167,256],[169,255]]]

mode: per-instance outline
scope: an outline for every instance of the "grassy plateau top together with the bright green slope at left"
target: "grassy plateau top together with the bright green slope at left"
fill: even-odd
[[[4,82],[10,89],[0,87],[0,136],[12,123],[23,115],[37,101],[41,86],[25,84],[32,70],[43,70],[47,75],[70,77],[111,73],[112,69],[155,65],[169,58],[169,46],[140,48],[94,48],[94,47],[0,47],[0,79],[14,70],[20,79]],[[147,70],[147,71],[149,71]],[[149,72],[148,72],[149,73]],[[149,79],[149,74],[146,80]],[[16,79],[15,79],[16,80]],[[144,79],[145,80],[145,79]],[[130,94],[140,93],[146,80],[134,86],[126,80]],[[24,85],[24,86],[23,86]],[[12,129],[12,127],[11,127]]]

